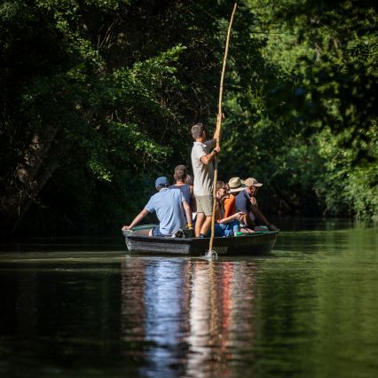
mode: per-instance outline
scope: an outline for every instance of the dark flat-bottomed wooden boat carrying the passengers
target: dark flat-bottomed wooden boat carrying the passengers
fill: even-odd
[[[130,253],[146,255],[204,256],[209,250],[209,238],[159,238],[148,236],[156,224],[146,224],[123,232]],[[256,256],[272,251],[278,231],[246,233],[228,238],[214,238],[214,250],[219,256]],[[189,237],[188,237],[189,236]]]

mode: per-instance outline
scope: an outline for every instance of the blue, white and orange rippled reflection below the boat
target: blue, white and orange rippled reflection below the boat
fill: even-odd
[[[233,375],[253,358],[255,286],[253,261],[124,262],[122,339],[144,344],[140,374]]]

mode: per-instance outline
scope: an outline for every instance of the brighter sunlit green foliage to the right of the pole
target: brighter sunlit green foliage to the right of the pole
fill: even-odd
[[[270,206],[276,199],[283,212],[377,217],[374,4],[249,4],[268,41],[258,72],[263,91],[251,85],[240,106],[231,95],[237,127],[225,143],[230,151],[249,145],[253,152],[225,160],[227,170],[260,175],[270,184]],[[266,75],[269,67],[274,75]],[[248,172],[241,168],[246,158]]]

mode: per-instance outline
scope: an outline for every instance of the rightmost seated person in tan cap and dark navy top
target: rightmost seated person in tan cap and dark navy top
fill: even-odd
[[[249,217],[249,214],[252,213],[253,216],[260,222],[263,223],[270,231],[279,231],[279,229],[271,224],[264,214],[258,209],[256,202],[256,193],[259,187],[263,184],[259,183],[256,178],[248,177],[244,180],[246,188],[241,191],[235,197],[236,209],[239,209],[243,213],[241,222],[241,227],[243,229],[241,232],[253,232],[255,230],[256,224],[255,221]]]

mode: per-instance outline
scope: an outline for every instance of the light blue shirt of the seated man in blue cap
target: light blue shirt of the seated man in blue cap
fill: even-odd
[[[159,229],[163,235],[171,235],[177,229],[184,228],[183,201],[185,198],[179,189],[163,188],[146,204],[147,211],[156,212],[160,222]]]

